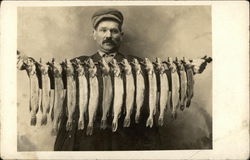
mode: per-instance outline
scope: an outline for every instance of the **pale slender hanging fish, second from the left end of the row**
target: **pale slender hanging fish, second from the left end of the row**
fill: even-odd
[[[47,124],[47,114],[50,111],[50,78],[48,75],[49,66],[42,62],[37,63],[38,68],[41,72],[42,79],[42,103],[41,103],[41,111],[42,111],[42,120],[41,125]]]

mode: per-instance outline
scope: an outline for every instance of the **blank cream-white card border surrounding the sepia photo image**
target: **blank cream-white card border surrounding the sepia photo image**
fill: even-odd
[[[174,151],[17,152],[17,6],[212,5],[213,149]],[[249,15],[247,2],[29,1],[1,6],[1,156],[22,159],[246,159],[249,155]]]

